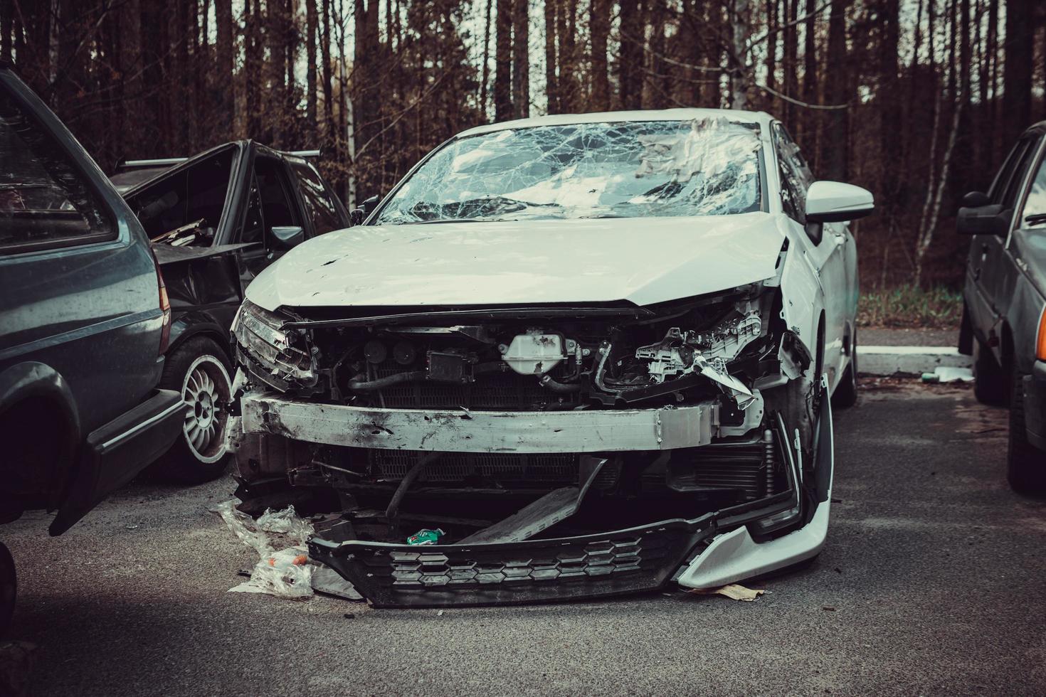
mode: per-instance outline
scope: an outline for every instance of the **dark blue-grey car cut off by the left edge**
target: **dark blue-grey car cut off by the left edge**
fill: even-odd
[[[59,535],[170,447],[170,312],[149,239],[47,107],[0,65],[0,522]],[[0,627],[14,601],[0,545]]]

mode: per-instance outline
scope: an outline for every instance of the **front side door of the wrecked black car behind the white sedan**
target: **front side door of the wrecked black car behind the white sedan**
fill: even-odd
[[[277,226],[305,228],[286,163],[274,154],[259,152],[254,157],[247,198],[247,212],[237,241],[250,243],[240,258],[244,289],[262,271],[287,251],[272,235]]]

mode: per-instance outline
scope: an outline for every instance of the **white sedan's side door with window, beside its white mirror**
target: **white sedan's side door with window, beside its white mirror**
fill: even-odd
[[[796,227],[803,243],[803,256],[818,278],[824,297],[822,370],[828,373],[834,386],[841,374],[844,338],[849,331],[846,318],[852,294],[847,292],[845,247],[847,243],[852,246],[852,237],[842,224],[806,225],[806,190],[814,177],[799,146],[780,123],[773,125],[773,142],[781,180],[781,206]]]

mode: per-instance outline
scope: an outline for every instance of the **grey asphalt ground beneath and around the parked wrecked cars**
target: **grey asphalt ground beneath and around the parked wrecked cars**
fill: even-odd
[[[751,603],[228,594],[253,562],[207,513],[231,481],[135,483],[63,537],[44,515],[0,531],[22,581],[13,633],[39,646],[39,695],[1046,692],[1046,503],[1006,488],[1005,413],[883,381],[836,428],[827,547]]]

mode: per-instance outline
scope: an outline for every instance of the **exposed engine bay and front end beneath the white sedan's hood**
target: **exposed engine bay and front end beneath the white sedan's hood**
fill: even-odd
[[[787,532],[816,480],[821,400],[779,298],[755,283],[657,307],[305,317],[245,303],[238,495],[258,512],[333,512],[314,556],[378,544],[391,585],[370,591],[388,604],[451,583],[446,563],[427,575],[381,547],[418,529],[434,549],[540,545],[770,504],[760,534]],[[367,595],[359,570],[324,561]]]

